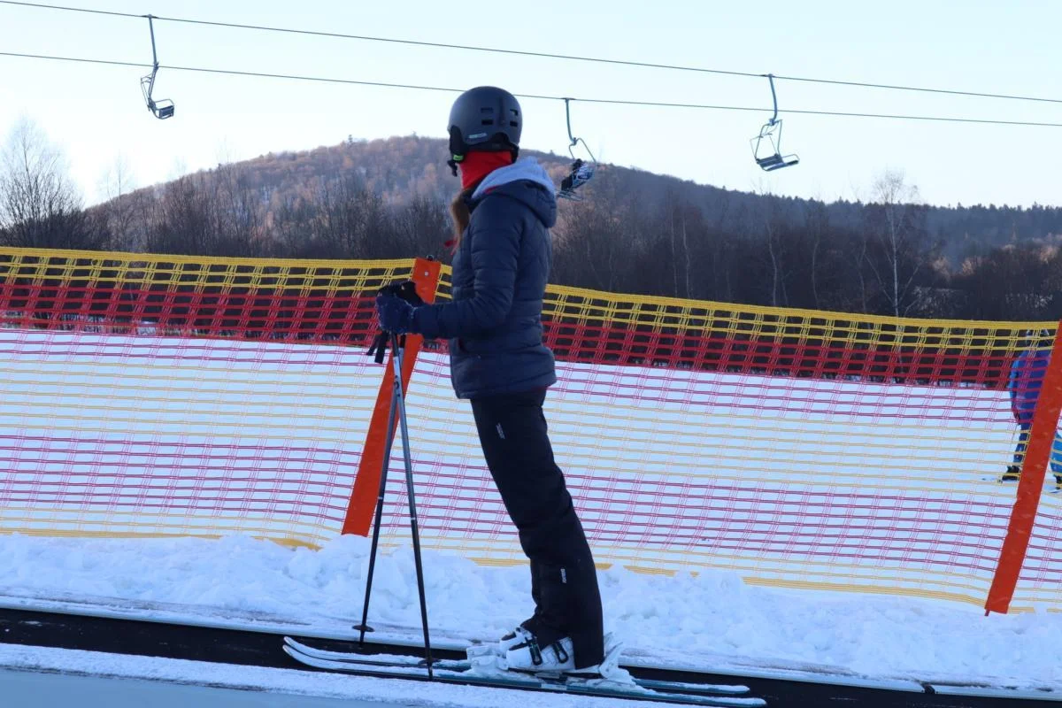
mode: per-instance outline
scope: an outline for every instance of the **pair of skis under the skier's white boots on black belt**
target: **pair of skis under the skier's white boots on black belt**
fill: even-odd
[[[424,659],[415,656],[337,652],[310,646],[290,637],[285,637],[284,641],[284,651],[290,657],[316,669],[364,676],[427,680]],[[481,656],[486,657],[486,654]],[[484,672],[478,670],[474,659],[435,660],[432,663],[432,671],[435,680],[469,686],[561,691],[632,701],[724,708],[757,708],[767,705],[761,698],[742,695],[749,692],[743,686],[709,686],[639,678],[633,679],[633,685],[628,685],[605,679],[572,679],[559,674],[524,674],[500,670]]]

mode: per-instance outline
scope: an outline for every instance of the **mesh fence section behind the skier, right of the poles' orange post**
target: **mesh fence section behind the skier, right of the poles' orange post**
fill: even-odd
[[[550,289],[545,318],[551,438],[599,563],[984,601],[1014,499],[1008,379],[1022,350],[1050,350],[1054,324],[569,288]],[[441,353],[421,353],[409,410],[427,543],[523,563]],[[398,480],[389,494],[401,537]],[[1059,501],[1043,501],[1015,607],[1062,606]]]

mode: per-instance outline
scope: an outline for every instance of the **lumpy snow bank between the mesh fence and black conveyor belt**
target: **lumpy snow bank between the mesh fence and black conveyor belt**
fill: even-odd
[[[70,601],[170,621],[244,621],[342,635],[360,618],[369,540],[321,550],[245,536],[87,540],[0,536],[0,605]],[[499,636],[530,611],[524,568],[426,552],[428,612],[439,638]],[[419,634],[409,548],[377,563],[373,622]],[[746,585],[721,571],[674,577],[614,566],[600,573],[606,631],[632,656],[705,670],[821,668],[878,679],[1062,689],[1062,614],[984,617],[974,606]],[[54,602],[52,602],[54,601]],[[295,627],[295,625],[299,625]],[[0,662],[4,655],[0,654]]]

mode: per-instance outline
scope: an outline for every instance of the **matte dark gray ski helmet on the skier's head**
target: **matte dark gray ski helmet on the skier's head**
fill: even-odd
[[[508,150],[515,159],[523,127],[520,104],[512,93],[495,86],[468,89],[450,108],[448,165],[457,173],[457,163],[472,150]]]

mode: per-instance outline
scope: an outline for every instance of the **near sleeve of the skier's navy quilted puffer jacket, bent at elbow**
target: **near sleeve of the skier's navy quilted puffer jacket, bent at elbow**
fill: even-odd
[[[472,246],[473,296],[417,308],[412,331],[427,338],[475,336],[506,321],[513,306],[523,234],[514,207],[500,195],[479,204],[464,236]]]

